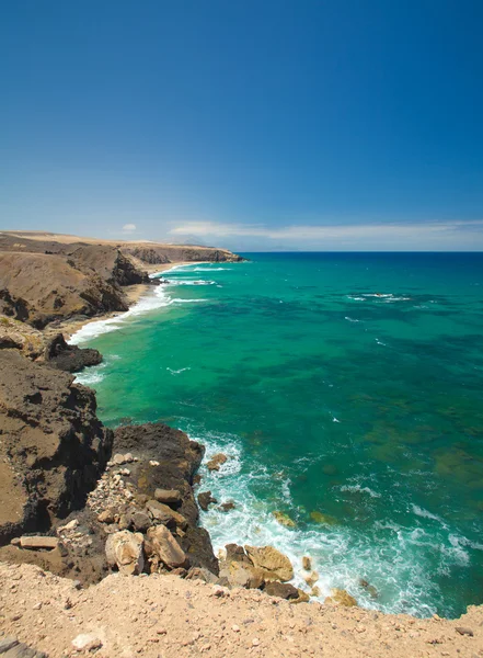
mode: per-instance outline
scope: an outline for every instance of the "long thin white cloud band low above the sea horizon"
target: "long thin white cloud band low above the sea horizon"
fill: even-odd
[[[426,223],[368,223],[352,225],[307,225],[266,227],[261,224],[187,222],[170,230],[173,236],[189,234],[211,239],[262,239],[280,247],[307,249],[481,249],[483,220]]]

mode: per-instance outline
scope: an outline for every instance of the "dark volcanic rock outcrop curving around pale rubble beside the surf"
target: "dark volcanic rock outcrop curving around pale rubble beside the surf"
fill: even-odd
[[[139,458],[129,468],[130,479],[140,495],[152,497],[156,489],[180,491],[182,501],[177,511],[187,521],[180,545],[192,566],[218,574],[209,534],[197,525],[198,507],[192,488],[194,473],[205,452],[203,445],[189,441],[184,432],[157,422],[118,428],[114,434],[114,452],[130,452]],[[151,466],[150,461],[159,465]]]

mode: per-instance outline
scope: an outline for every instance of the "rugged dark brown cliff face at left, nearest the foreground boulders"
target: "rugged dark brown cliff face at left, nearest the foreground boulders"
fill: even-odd
[[[94,393],[0,351],[0,544],[80,509],[111,454]]]

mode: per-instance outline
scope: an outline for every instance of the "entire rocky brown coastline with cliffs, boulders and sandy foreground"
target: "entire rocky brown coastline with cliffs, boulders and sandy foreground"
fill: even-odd
[[[161,422],[103,426],[94,393],[72,375],[102,355],[58,331],[61,321],[82,319],[74,299],[93,297],[87,302],[85,288],[70,284],[72,305],[53,303],[54,292],[64,294],[57,284],[42,299],[36,284],[26,294],[25,261],[13,248],[33,249],[23,254],[28,262],[54,257],[54,271],[67,264],[82,285],[95,279],[99,291],[111,286],[107,296],[119,304],[123,285],[149,279],[130,259],[166,256],[152,246],[125,248],[125,256],[111,245],[68,241],[39,253],[34,247],[45,241],[5,234],[1,243],[9,287],[0,294],[0,654],[483,656],[480,609],[459,622],[421,621],[359,610],[344,590],[306,605],[320,595],[310,556],[304,590],[290,583],[294,567],[273,546],[229,544],[215,556],[198,504],[218,501],[194,492],[204,446]],[[237,258],[212,251],[214,259]],[[45,292],[51,282],[42,285]],[[217,454],[207,467],[226,460]],[[229,513],[233,503],[221,507]]]

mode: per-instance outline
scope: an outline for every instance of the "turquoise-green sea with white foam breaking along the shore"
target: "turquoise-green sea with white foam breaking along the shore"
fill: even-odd
[[[226,452],[203,469],[202,490],[237,506],[202,514],[215,547],[272,543],[298,585],[310,555],[321,600],[482,603],[483,254],[250,258],[175,269],[76,337],[105,356],[81,376],[101,418],[160,419]]]

